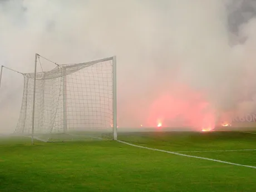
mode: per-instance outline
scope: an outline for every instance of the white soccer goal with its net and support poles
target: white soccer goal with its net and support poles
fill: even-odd
[[[22,73],[17,135],[46,142],[117,140],[116,57]]]

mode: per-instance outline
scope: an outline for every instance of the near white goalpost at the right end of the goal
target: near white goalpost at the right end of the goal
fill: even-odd
[[[116,56],[113,57],[113,140],[117,140]]]

